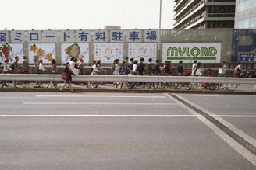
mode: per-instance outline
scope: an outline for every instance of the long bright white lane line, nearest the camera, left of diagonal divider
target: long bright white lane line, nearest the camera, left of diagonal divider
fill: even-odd
[[[201,115],[0,115],[0,117],[202,117]]]

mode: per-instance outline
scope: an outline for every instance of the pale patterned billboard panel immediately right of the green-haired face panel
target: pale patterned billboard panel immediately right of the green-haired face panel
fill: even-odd
[[[95,43],[94,60],[112,64],[116,59],[123,61],[123,43]]]

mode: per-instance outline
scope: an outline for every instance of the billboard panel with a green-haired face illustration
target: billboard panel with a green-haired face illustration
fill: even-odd
[[[71,57],[89,63],[89,43],[62,43],[62,63],[69,62]]]

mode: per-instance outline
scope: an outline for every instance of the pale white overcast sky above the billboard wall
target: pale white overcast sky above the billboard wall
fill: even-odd
[[[158,29],[160,0],[0,0],[0,29]],[[173,0],[162,0],[162,29],[172,29]],[[5,7],[5,8],[3,8]]]

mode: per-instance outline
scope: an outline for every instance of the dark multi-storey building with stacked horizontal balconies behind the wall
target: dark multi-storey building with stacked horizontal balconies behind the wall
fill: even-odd
[[[174,0],[174,2],[176,2],[174,29],[234,28],[236,0]]]

